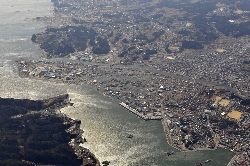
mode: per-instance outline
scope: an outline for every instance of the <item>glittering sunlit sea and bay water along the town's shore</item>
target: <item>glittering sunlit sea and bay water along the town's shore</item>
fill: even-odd
[[[39,16],[53,15],[50,0],[1,0],[0,3],[0,97],[43,99],[69,93],[74,107],[61,111],[82,121],[87,143],[100,161],[111,166],[193,166],[212,159],[208,166],[226,166],[234,156],[228,150],[178,152],[165,138],[160,121],[143,121],[87,85],[55,84],[19,78],[17,58],[41,59],[31,35],[45,30]],[[133,138],[127,136],[133,134]],[[167,152],[175,151],[172,156]]]

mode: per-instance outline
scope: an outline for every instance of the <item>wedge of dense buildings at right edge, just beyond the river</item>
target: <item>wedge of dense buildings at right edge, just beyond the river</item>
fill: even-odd
[[[215,48],[202,51],[193,51],[186,56],[177,56],[175,60],[159,63],[157,67],[162,71],[192,77],[194,79],[217,82],[238,90],[245,97],[250,94],[249,70],[246,69],[249,59],[250,45],[248,40],[228,44],[223,53]],[[154,64],[155,66],[155,64]]]

